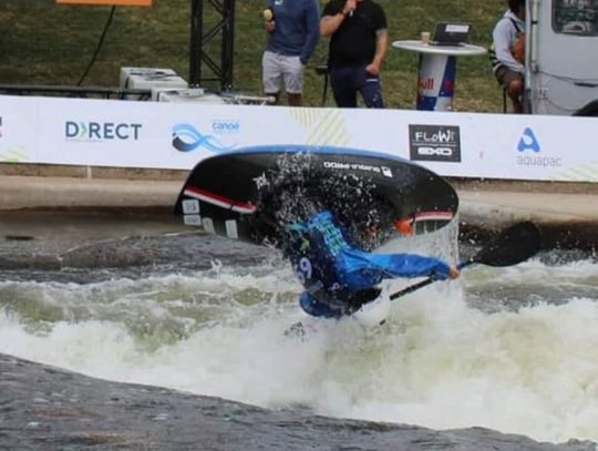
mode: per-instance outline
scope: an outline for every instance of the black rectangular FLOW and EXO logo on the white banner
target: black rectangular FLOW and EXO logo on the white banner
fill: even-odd
[[[410,160],[461,162],[461,133],[455,125],[410,125]]]

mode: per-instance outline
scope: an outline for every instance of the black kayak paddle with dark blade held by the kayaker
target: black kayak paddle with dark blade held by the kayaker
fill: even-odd
[[[530,222],[515,224],[501,232],[498,236],[486,244],[473,257],[457,265],[463,269],[473,264],[494,267],[512,266],[534,256],[540,248],[540,233]],[[391,300],[413,293],[439,279],[427,278],[417,284],[410,285],[390,296]]]

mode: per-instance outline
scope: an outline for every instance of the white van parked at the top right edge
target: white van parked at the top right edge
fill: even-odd
[[[598,116],[598,0],[527,0],[525,110]]]

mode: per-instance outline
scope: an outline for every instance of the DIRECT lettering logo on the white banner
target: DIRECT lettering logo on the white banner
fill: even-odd
[[[64,123],[68,141],[137,141],[142,124],[125,122],[75,122]]]

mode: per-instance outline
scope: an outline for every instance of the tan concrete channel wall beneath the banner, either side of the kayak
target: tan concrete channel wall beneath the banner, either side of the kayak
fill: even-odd
[[[2,212],[126,212],[171,215],[187,171],[0,164]],[[450,178],[464,233],[533,221],[547,247],[598,248],[598,183]]]

